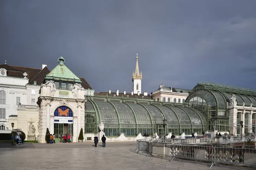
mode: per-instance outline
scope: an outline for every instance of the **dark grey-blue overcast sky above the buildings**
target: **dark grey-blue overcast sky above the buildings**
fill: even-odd
[[[255,0],[0,0],[0,63],[65,65],[96,92],[256,89]]]

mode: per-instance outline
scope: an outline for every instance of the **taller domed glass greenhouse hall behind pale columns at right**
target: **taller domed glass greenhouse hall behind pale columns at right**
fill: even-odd
[[[229,103],[233,95],[236,97],[238,110],[235,117],[237,130],[240,131],[241,113],[244,111],[244,133],[248,133],[248,127],[253,123],[255,125],[255,113],[253,113],[255,109],[253,107],[256,107],[256,91],[254,90],[209,82],[198,83],[185,102],[190,108],[198,110],[204,115],[204,118],[208,120],[208,130],[214,130],[213,124],[219,131],[229,131],[230,126],[233,126],[229,125],[229,119],[232,116],[230,110],[233,109],[229,107]],[[250,118],[250,114],[252,114],[252,118]]]

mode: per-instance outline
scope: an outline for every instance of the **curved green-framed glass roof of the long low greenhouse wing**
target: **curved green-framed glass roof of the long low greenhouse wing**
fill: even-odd
[[[85,113],[95,113],[97,117],[96,123],[103,122],[107,124],[107,128],[111,128],[111,126],[113,126],[112,128],[136,128],[135,125],[140,125],[137,128],[153,128],[152,125],[163,125],[164,119],[167,120],[168,128],[203,129],[207,125],[203,114],[192,108],[154,105],[154,103],[135,104],[130,102],[98,101],[95,99],[87,100],[85,102]]]

